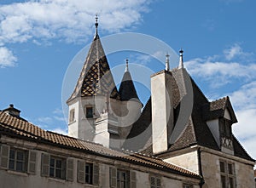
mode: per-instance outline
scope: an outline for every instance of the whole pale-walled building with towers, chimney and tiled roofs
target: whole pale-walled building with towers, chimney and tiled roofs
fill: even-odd
[[[229,97],[208,101],[183,67],[151,76],[143,107],[128,60],[116,87],[97,31],[67,100],[68,136],[0,111],[0,187],[254,187]],[[143,109],[143,110],[142,110]]]

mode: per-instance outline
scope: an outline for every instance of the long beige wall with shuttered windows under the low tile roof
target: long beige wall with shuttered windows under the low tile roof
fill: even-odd
[[[1,153],[3,154],[3,146],[9,146],[14,150],[33,152],[35,154],[35,168],[33,172],[20,172],[17,170],[12,170],[9,168],[3,168],[3,155],[1,168],[0,168],[0,187],[4,188],[13,188],[13,187],[54,187],[54,188],[71,188],[71,187],[117,187],[116,184],[119,184],[118,177],[111,177],[113,174],[110,174],[110,169],[114,168],[116,172],[125,172],[126,176],[126,185],[125,187],[154,187],[152,185],[151,177],[157,177],[160,179],[160,186],[157,187],[170,187],[173,188],[182,188],[184,184],[193,185],[193,188],[199,188],[200,179],[192,178],[189,176],[183,176],[181,174],[172,174],[165,172],[163,170],[158,170],[156,168],[148,168],[147,166],[138,165],[136,163],[132,164],[131,162],[122,162],[119,159],[111,159],[109,157],[100,157],[97,155],[88,154],[83,151],[73,151],[68,149],[61,149],[53,145],[39,144],[36,142],[20,140],[10,138],[8,136],[2,136],[0,139],[0,146],[2,148]],[[43,174],[43,163],[44,155],[50,155],[50,157],[60,157],[63,160],[71,160],[72,165],[65,169],[65,172],[62,172],[65,175],[64,178],[50,177],[50,175]],[[29,159],[30,162],[31,159]],[[66,161],[67,162],[67,161]],[[79,162],[88,162],[90,164],[96,164],[98,167],[97,180],[94,179],[91,183],[80,182],[80,169]],[[26,162],[25,162],[26,163]],[[64,162],[65,163],[65,162]],[[64,164],[63,163],[63,164]],[[62,165],[63,165],[62,164]],[[66,165],[66,164],[65,164]],[[95,166],[93,166],[94,168]],[[69,170],[67,174],[67,170]],[[90,174],[91,172],[89,172]],[[94,172],[95,173],[95,172]],[[130,175],[132,174],[132,175]],[[132,176],[132,178],[131,178]],[[85,175],[86,178],[86,175]],[[110,179],[114,179],[115,184],[111,185]],[[86,181],[86,180],[85,180]],[[95,183],[96,182],[96,183]],[[118,186],[119,187],[119,186]],[[156,186],[155,186],[156,187]]]

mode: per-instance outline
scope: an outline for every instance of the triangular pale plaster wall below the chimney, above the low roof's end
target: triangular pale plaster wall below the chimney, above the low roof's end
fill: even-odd
[[[176,157],[167,158],[164,161],[171,162],[172,164],[176,164],[177,166],[199,174],[197,156],[197,151],[191,151],[189,153],[177,155]]]

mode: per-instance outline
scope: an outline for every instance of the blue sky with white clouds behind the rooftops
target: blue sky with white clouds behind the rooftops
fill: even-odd
[[[0,109],[14,104],[29,122],[67,134],[62,85],[74,57],[86,56],[81,49],[90,45],[99,14],[102,38],[135,32],[176,53],[183,48],[184,66],[208,100],[230,96],[238,119],[233,131],[256,158],[255,7],[254,0],[1,0]],[[153,72],[162,68],[147,54],[127,51],[109,54],[108,62],[124,68],[125,58]],[[143,102],[150,94],[139,93]]]

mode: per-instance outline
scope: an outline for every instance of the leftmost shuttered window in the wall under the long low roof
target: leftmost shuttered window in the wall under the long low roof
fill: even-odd
[[[18,172],[26,172],[27,155],[25,151],[9,150],[9,169]]]

